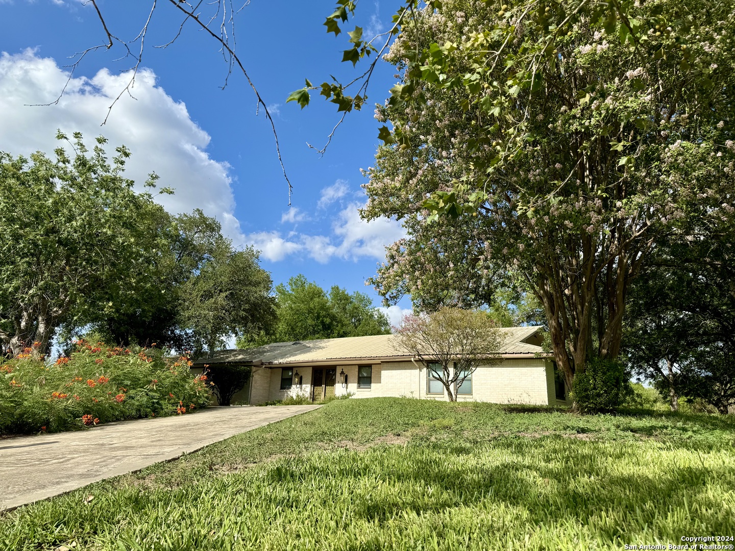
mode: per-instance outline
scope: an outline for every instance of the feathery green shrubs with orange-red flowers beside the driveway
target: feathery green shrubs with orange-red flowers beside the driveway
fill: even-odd
[[[101,422],[184,414],[209,404],[207,375],[162,350],[79,340],[55,362],[32,349],[0,364],[0,434],[65,431]]]

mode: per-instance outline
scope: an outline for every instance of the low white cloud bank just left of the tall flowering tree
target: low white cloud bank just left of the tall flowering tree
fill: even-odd
[[[396,220],[361,220],[359,207],[357,203],[350,204],[337,215],[331,237],[292,231],[284,238],[278,231],[262,231],[249,234],[247,240],[262,251],[263,258],[273,262],[290,255],[309,256],[322,264],[333,258],[384,260],[385,246],[401,239],[406,232]]]

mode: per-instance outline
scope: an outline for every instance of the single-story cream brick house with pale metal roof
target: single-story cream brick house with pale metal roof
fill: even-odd
[[[458,389],[458,400],[568,405],[555,363],[543,353],[539,327],[503,328],[502,362],[478,367]],[[289,396],[318,401],[351,393],[356,398],[396,396],[447,400],[444,386],[420,361],[401,351],[393,335],[276,342],[249,350],[221,350],[205,365],[250,367],[251,378],[232,403],[257,405]]]

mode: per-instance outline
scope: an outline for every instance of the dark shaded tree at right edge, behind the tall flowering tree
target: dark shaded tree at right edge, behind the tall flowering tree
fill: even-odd
[[[680,396],[723,413],[735,403],[735,228],[722,222],[661,244],[629,295],[625,360],[672,410]]]

